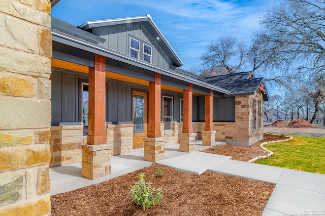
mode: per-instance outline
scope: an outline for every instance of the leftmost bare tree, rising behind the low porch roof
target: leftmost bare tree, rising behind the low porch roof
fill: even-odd
[[[236,73],[246,65],[247,47],[233,36],[220,36],[210,42],[201,59],[208,71],[221,68],[225,73]]]

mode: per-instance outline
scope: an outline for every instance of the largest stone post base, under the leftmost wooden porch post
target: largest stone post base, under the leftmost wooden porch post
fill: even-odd
[[[83,145],[81,176],[94,180],[111,174],[112,145]]]

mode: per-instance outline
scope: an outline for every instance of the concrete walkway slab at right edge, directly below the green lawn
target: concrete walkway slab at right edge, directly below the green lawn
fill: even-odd
[[[325,175],[313,172],[284,169],[278,184],[325,194]],[[323,203],[325,205],[325,200]]]

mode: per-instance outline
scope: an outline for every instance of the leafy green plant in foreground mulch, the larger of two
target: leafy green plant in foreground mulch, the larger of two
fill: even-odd
[[[160,204],[161,198],[163,197],[161,188],[155,189],[151,187],[151,183],[146,183],[143,179],[144,175],[140,174],[140,180],[131,187],[130,194],[132,200],[137,204],[143,207],[143,209],[148,209],[151,206],[156,206]],[[157,192],[155,196],[153,193]]]

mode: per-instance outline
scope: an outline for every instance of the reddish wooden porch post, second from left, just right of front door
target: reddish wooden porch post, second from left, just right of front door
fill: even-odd
[[[154,82],[149,82],[149,111],[147,137],[161,137],[160,103],[161,103],[161,74],[155,73]]]

